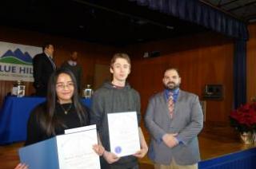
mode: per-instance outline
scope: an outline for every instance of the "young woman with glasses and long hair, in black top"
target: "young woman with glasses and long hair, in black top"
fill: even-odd
[[[39,104],[30,114],[25,145],[86,125],[89,125],[89,110],[78,96],[74,74],[68,69],[59,69],[50,77],[46,102]],[[94,145],[93,148],[98,155],[103,154],[102,146]],[[24,167],[22,164],[19,166]]]

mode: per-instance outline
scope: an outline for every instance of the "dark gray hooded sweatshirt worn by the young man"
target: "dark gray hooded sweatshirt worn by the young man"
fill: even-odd
[[[141,120],[140,96],[134,88],[126,83],[125,87],[116,87],[106,82],[94,92],[92,99],[90,124],[96,124],[102,145],[110,151],[110,137],[107,114],[114,112],[137,112],[138,125]],[[122,157],[117,162],[108,164],[101,158],[102,168],[130,168],[138,164],[133,155]]]

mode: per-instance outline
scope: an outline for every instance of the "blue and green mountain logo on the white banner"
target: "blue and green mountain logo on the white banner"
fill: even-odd
[[[32,57],[29,53],[22,53],[20,49],[14,52],[7,50],[0,58],[0,62],[18,65],[32,65]]]

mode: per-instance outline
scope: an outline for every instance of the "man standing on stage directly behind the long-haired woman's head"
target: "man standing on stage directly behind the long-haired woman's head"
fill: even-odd
[[[70,59],[68,61],[64,61],[62,64],[62,68],[70,69],[70,71],[74,74],[74,77],[78,84],[78,92],[81,92],[82,88],[82,66],[78,64],[78,52],[74,51],[70,55]]]

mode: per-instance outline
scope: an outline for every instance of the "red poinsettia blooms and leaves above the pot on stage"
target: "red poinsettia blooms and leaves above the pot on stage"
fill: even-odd
[[[256,102],[244,104],[230,113],[230,123],[238,132],[256,130]]]

